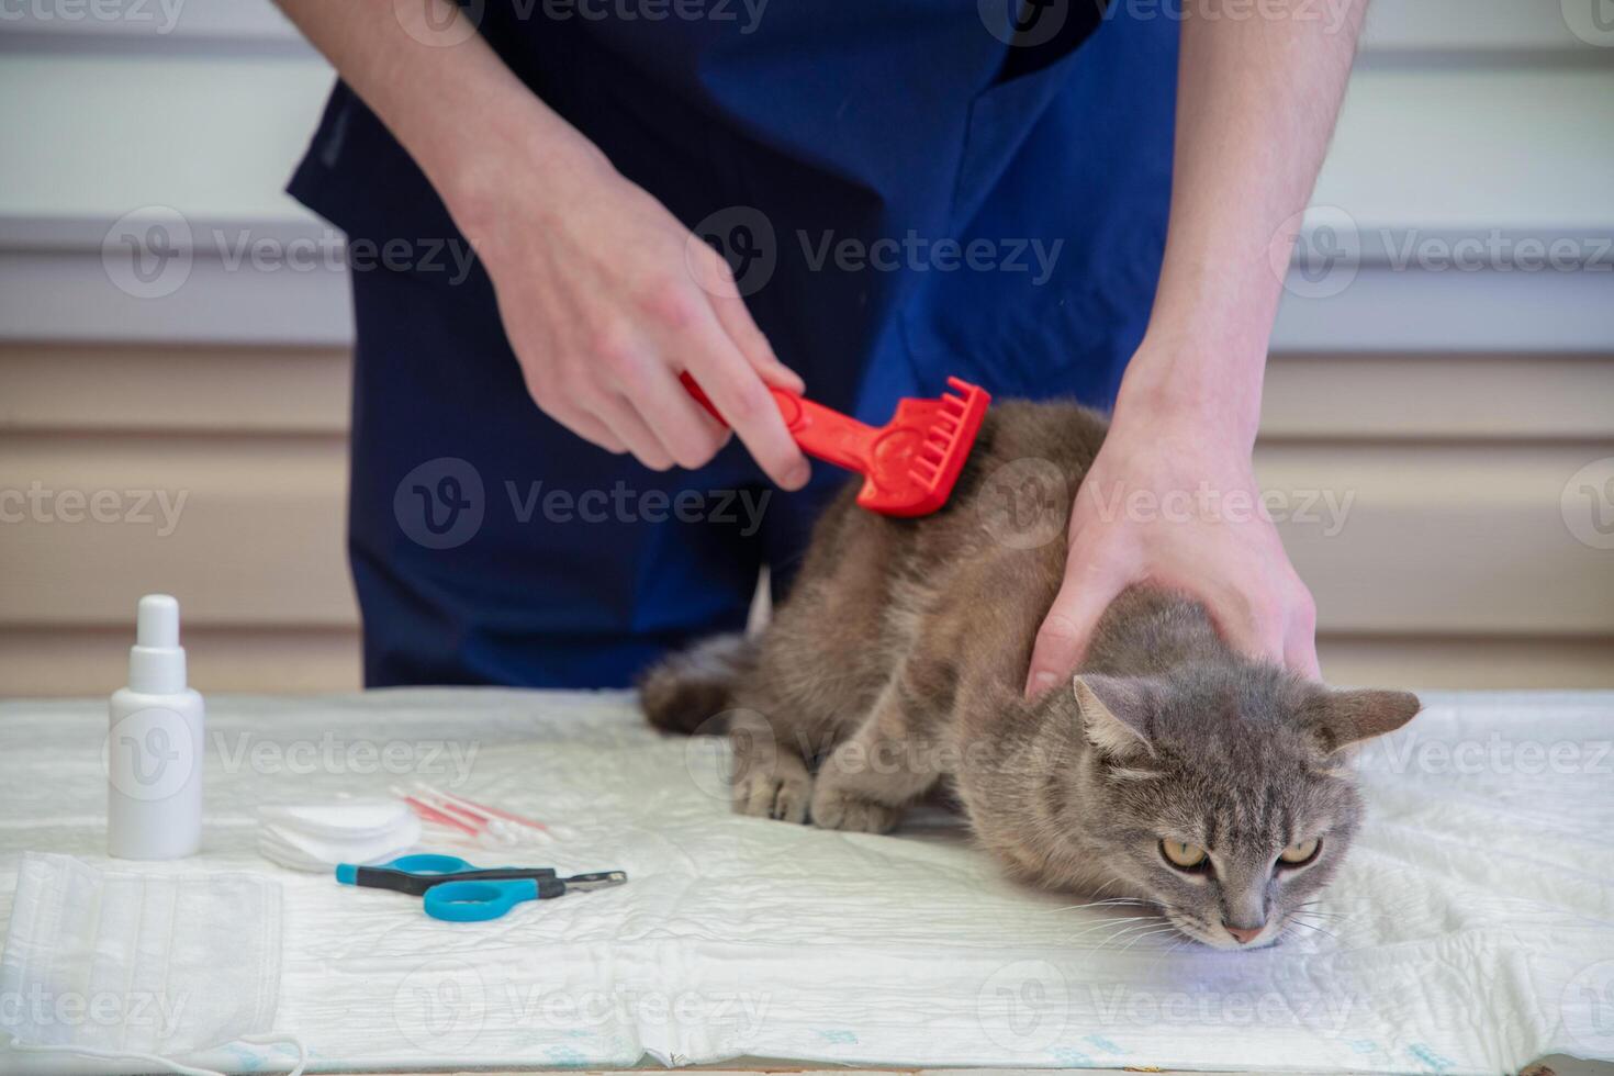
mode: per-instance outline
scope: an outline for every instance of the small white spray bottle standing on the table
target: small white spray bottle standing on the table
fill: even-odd
[[[107,737],[107,850],[178,860],[202,847],[202,695],[186,687],[179,602],[140,598],[129,686],[113,692]]]

